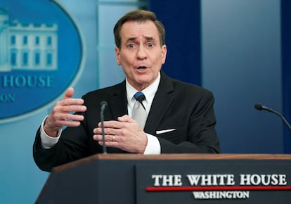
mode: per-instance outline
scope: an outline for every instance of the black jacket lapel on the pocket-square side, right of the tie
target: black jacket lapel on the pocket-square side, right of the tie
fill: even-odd
[[[161,71],[161,81],[153,99],[148,119],[145,123],[145,132],[155,135],[157,126],[160,124],[164,114],[174,101],[174,97],[169,94],[172,91],[174,91],[174,87],[171,79]]]

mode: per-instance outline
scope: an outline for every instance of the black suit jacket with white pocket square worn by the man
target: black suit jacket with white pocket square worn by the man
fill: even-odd
[[[66,128],[56,146],[42,149],[39,131],[34,141],[34,160],[41,170],[102,153],[94,141],[93,129],[100,122],[101,101],[107,101],[104,120],[116,120],[127,114],[127,91],[124,82],[84,95],[87,110],[79,127]],[[172,79],[161,71],[161,80],[153,99],[144,131],[157,136],[161,153],[219,153],[219,139],[214,129],[214,97],[210,91]],[[157,134],[159,130],[176,129]],[[108,153],[125,153],[107,148]]]

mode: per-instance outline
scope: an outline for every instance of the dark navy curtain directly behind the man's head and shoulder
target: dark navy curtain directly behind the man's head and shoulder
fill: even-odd
[[[200,1],[148,0],[148,10],[166,29],[168,53],[162,70],[181,81],[201,85]]]

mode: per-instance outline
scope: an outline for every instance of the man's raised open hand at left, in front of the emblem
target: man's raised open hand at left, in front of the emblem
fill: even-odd
[[[44,122],[44,131],[48,136],[56,137],[58,131],[63,127],[77,127],[80,121],[84,120],[83,115],[73,115],[74,112],[86,111],[86,106],[83,106],[82,98],[72,98],[74,89],[70,87],[65,91],[65,96],[62,101],[58,101],[53,107],[51,113]]]

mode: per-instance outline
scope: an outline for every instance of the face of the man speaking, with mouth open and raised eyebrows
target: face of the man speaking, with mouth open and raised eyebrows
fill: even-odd
[[[122,25],[121,48],[115,48],[117,64],[127,75],[127,80],[141,91],[153,84],[166,60],[167,46],[160,46],[155,24],[129,21]]]

